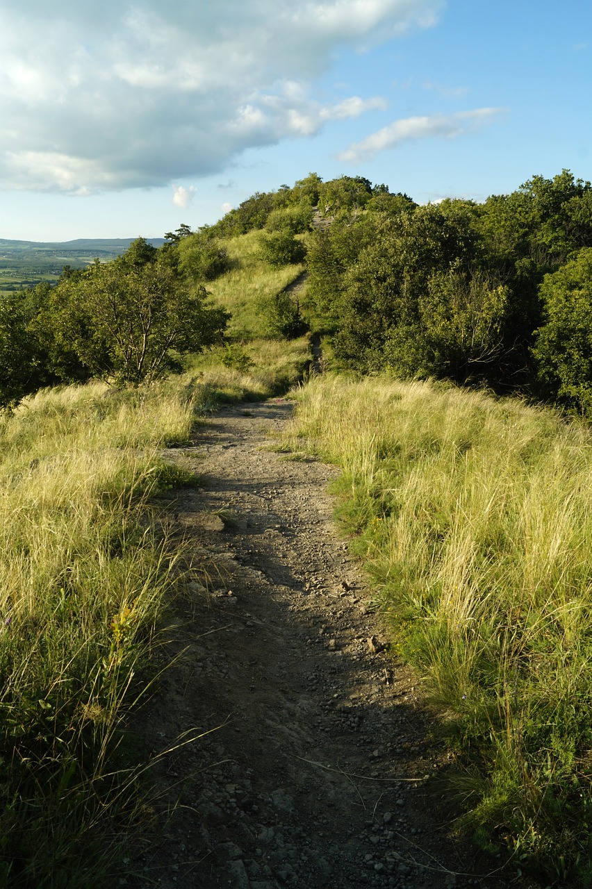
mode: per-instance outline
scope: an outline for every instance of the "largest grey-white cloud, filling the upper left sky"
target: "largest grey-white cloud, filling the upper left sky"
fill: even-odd
[[[322,105],[343,46],[436,21],[442,0],[0,0],[0,187],[162,185],[379,108]]]

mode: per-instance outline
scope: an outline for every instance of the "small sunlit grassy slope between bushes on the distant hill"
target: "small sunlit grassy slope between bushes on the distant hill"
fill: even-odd
[[[275,268],[259,258],[259,231],[224,242],[233,268],[208,284],[217,305],[232,313],[228,331],[241,340],[257,340],[267,335],[262,306],[292,284],[303,265]]]

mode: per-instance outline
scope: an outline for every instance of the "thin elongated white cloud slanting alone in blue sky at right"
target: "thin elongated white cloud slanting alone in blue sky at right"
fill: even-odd
[[[378,132],[366,136],[360,142],[353,142],[338,159],[348,164],[359,164],[387,148],[396,148],[404,142],[417,139],[454,139],[483,124],[490,124],[502,108],[475,108],[452,115],[432,115],[426,117],[405,117],[383,127]]]

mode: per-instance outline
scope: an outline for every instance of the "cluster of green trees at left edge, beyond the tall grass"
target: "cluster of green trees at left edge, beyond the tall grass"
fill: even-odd
[[[189,240],[189,238],[187,238]],[[179,248],[180,249],[180,248]],[[0,303],[0,406],[41,386],[91,378],[139,385],[220,340],[228,313],[169,250],[138,238],[117,260]]]

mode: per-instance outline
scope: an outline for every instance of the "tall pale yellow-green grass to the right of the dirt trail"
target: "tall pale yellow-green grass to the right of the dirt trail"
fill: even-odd
[[[286,444],[342,469],[341,522],[464,764],[465,823],[589,885],[589,429],[420,382],[317,378],[299,402]]]

